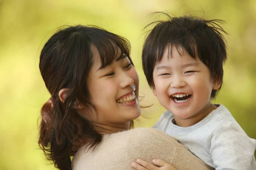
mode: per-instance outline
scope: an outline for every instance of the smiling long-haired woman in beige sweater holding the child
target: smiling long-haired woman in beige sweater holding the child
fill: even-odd
[[[87,139],[73,170],[129,170],[136,159],[163,159],[177,170],[209,170],[171,136],[133,127],[141,113],[129,42],[94,26],[71,26],[44,45],[39,68],[51,94],[41,110],[39,145],[70,170],[74,140]]]

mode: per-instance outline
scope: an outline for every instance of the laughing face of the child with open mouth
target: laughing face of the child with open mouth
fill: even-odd
[[[176,122],[204,115],[211,103],[212,89],[220,86],[213,83],[209,68],[200,59],[195,60],[182,48],[179,51],[182,56],[173,46],[172,57],[170,50],[168,56],[167,45],[153,71],[154,95],[174,115]]]

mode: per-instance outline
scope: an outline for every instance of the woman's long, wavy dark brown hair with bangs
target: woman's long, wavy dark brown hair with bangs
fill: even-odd
[[[96,111],[87,88],[87,76],[93,65],[92,45],[99,51],[102,68],[122,54],[131,61],[128,40],[96,26],[61,28],[41,51],[39,68],[51,98],[41,109],[38,143],[47,159],[60,170],[71,170],[70,153],[79,135],[91,139],[90,148],[102,140],[93,123],[74,108],[79,102],[88,108],[88,114],[90,109]],[[63,88],[69,91],[61,102],[58,94]]]

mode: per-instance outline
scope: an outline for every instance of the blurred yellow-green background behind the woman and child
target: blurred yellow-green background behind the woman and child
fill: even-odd
[[[145,80],[143,27],[166,19],[149,15],[221,19],[229,33],[224,85],[215,103],[224,104],[256,139],[256,0],[0,0],[0,169],[54,170],[38,149],[38,117],[49,99],[38,69],[40,50],[57,27],[93,24],[126,37],[140,76],[143,109],[137,127],[150,127],[164,109]]]

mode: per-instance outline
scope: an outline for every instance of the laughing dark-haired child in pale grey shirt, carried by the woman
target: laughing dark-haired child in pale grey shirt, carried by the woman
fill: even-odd
[[[148,85],[167,110],[153,127],[216,170],[256,170],[256,140],[224,105],[211,103],[221,88],[227,59],[221,34],[226,32],[218,25],[222,21],[169,18],[150,31],[143,46]],[[157,168],[139,161],[147,169]]]

